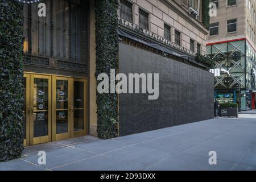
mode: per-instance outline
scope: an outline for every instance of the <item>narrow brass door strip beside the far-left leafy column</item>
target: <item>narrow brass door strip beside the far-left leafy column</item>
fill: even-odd
[[[24,113],[24,118],[26,119],[26,139],[24,139],[23,145],[30,145],[30,74],[24,73],[23,77],[26,79],[26,113]]]

